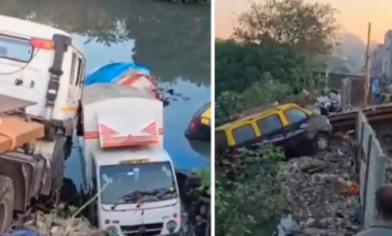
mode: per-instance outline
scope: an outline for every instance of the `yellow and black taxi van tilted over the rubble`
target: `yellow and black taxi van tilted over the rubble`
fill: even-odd
[[[215,129],[217,151],[260,143],[282,147],[290,156],[326,150],[332,127],[325,116],[295,103],[264,109]]]

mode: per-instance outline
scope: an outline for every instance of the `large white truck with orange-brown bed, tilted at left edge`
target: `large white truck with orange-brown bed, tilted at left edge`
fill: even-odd
[[[61,187],[84,69],[67,32],[0,15],[0,233]]]

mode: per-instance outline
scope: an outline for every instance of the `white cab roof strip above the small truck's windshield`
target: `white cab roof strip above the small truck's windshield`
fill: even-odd
[[[169,154],[162,147],[143,146],[140,148],[97,149],[93,152],[99,166],[118,165],[121,161],[150,159],[151,162],[171,161]]]

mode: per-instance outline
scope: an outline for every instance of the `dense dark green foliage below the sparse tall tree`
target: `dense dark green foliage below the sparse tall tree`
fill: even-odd
[[[276,44],[241,44],[234,40],[215,43],[216,94],[243,92],[265,73],[283,83],[295,83],[308,73],[305,54]]]

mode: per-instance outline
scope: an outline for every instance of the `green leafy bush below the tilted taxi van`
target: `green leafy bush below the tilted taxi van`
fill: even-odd
[[[225,158],[216,157],[215,235],[259,235],[287,206],[280,186],[283,150],[270,145],[240,149],[238,164]]]

